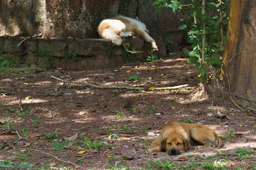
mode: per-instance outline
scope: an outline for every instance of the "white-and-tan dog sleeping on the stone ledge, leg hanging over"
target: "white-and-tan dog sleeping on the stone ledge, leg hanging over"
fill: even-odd
[[[111,40],[117,46],[122,44],[121,38],[132,36],[135,33],[146,42],[151,42],[154,51],[158,50],[155,40],[149,36],[146,25],[133,18],[119,15],[103,20],[98,26],[98,33],[102,38]]]

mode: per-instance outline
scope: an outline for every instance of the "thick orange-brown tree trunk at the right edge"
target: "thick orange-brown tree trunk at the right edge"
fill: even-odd
[[[256,102],[256,0],[230,2],[222,76],[234,95]]]

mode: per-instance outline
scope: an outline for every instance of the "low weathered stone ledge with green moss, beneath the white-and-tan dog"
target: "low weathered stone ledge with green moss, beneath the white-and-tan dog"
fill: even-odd
[[[156,54],[162,53],[162,57],[166,55],[166,49],[163,42],[161,44],[162,37],[158,39],[160,49]],[[22,40],[19,37],[1,37],[0,55],[14,62],[70,70],[116,67],[126,63],[128,57],[123,46],[113,46],[112,42],[103,39],[27,39],[18,47]],[[140,53],[141,57],[148,56],[151,44],[144,43],[141,37],[133,36],[123,41],[135,47],[136,51],[145,51],[144,54]]]

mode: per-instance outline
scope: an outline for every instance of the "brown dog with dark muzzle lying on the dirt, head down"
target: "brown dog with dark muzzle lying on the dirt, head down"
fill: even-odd
[[[189,148],[222,148],[222,146],[220,137],[205,125],[169,122],[146,153],[160,152],[164,149],[169,155],[179,155]]]

